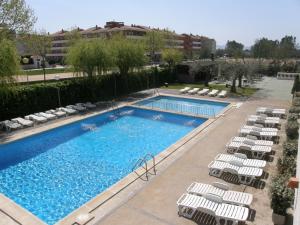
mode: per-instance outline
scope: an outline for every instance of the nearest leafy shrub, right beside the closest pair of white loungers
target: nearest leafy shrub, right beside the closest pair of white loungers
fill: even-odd
[[[279,215],[286,215],[286,210],[292,205],[294,192],[286,185],[287,177],[278,175],[273,178],[270,193],[271,207],[273,212]]]

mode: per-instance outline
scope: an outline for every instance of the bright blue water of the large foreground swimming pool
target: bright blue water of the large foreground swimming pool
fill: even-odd
[[[52,225],[204,121],[124,107],[2,144],[0,192]]]

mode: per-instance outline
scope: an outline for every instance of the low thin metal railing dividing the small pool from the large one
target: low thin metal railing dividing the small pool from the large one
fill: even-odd
[[[150,107],[151,109],[161,108],[166,111],[177,111],[180,113],[190,113],[194,115],[206,115],[215,117],[215,110],[205,106],[195,106],[186,103],[173,103],[173,102],[158,102],[155,100],[148,100],[150,104],[144,107]]]

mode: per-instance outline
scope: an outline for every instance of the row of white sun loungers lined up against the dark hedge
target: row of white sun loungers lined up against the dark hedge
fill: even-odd
[[[60,107],[57,109],[51,109],[46,112],[39,112],[30,114],[24,118],[18,117],[11,120],[5,120],[0,122],[0,129],[6,131],[14,131],[20,128],[32,127],[34,124],[45,123],[50,120],[54,120],[60,117],[74,115],[78,112],[84,112],[88,109],[94,109],[96,105],[87,103],[77,103],[76,105],[68,105],[66,107]]]

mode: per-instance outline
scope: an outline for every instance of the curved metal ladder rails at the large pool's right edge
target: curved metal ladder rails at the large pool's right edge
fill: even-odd
[[[152,159],[152,167],[149,167],[149,166],[148,166],[149,158]],[[142,173],[142,174],[139,174],[139,173],[136,171],[137,168],[143,168],[143,169],[145,170],[145,172]],[[151,172],[151,169],[153,169],[153,173]],[[145,174],[145,175],[146,175],[146,181],[148,181],[148,180],[149,180],[149,174],[150,174],[150,175],[156,175],[156,163],[155,163],[155,157],[154,157],[152,154],[150,154],[150,153],[146,154],[144,157],[142,157],[142,158],[140,158],[140,159],[138,159],[138,160],[136,161],[136,163],[135,163],[134,166],[132,167],[132,171],[135,172],[135,174],[136,174],[139,178],[141,178],[142,180],[143,180],[142,176]]]

